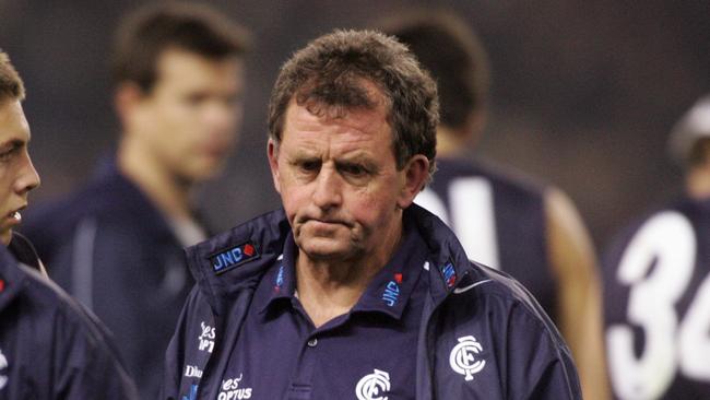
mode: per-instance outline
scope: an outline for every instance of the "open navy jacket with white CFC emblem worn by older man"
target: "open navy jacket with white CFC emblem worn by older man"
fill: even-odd
[[[530,294],[469,261],[451,231],[428,211],[412,205],[404,217],[412,219],[429,254],[416,399],[581,399],[569,350]],[[280,210],[187,249],[198,283],[168,348],[162,399],[217,398],[255,289],[282,254],[289,230]],[[229,249],[232,267],[216,273],[214,256]]]

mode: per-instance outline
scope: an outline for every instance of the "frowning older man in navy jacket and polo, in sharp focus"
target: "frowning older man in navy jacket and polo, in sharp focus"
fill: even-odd
[[[534,299],[412,204],[437,121],[391,37],[336,31],[286,62],[268,145],[284,210],[188,250],[164,398],[580,398]]]

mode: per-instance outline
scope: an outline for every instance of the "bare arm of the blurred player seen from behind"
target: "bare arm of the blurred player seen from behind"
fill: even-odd
[[[569,344],[585,399],[610,398],[604,358],[602,297],[594,246],[571,200],[545,193],[547,244],[557,278],[559,329]]]

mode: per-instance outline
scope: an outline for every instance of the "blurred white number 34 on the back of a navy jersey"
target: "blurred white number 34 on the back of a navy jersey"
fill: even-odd
[[[647,221],[624,251],[616,278],[630,286],[627,318],[643,329],[637,357],[629,325],[608,328],[607,355],[614,390],[623,399],[656,399],[681,372],[710,380],[710,277],[700,285],[683,321],[675,305],[687,290],[696,263],[693,225],[678,212]],[[649,270],[655,260],[655,268]]]

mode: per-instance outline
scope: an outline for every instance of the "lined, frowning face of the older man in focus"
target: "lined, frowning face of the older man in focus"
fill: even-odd
[[[397,170],[386,118],[383,105],[330,118],[292,101],[281,143],[269,142],[274,185],[310,259],[363,259],[399,239],[401,210],[418,188],[407,187],[407,168]]]

